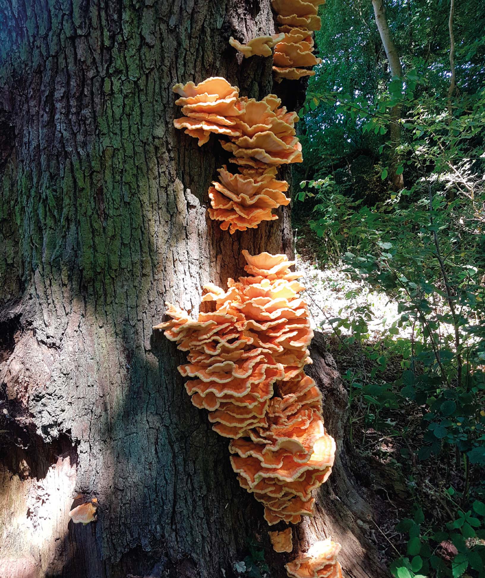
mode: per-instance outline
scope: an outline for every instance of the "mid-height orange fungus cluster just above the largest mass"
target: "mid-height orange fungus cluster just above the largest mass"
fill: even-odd
[[[256,228],[262,221],[278,218],[272,210],[288,205],[286,181],[277,180],[279,165],[301,162],[301,145],[294,124],[299,117],[281,106],[281,99],[268,94],[261,101],[240,97],[239,89],[221,77],[199,84],[188,82],[173,87],[181,98],[176,104],[185,115],[174,120],[176,128],[206,143],[211,132],[229,138],[222,147],[233,154],[219,169],[219,180],[209,189],[209,216],[221,221],[221,229],[232,234]]]

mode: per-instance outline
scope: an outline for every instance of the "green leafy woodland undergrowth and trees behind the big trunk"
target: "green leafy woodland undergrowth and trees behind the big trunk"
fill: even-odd
[[[370,308],[331,320],[339,346],[358,344],[372,365],[344,376],[352,411],[366,407],[367,426],[405,441],[394,467],[412,507],[396,527],[398,578],[485,576],[485,3],[456,2],[451,96],[449,10],[449,0],[386,2],[399,79],[372,3],[329,0],[316,33],[323,64],[300,111],[297,224],[309,220],[324,264],[399,302],[379,346],[369,342]],[[396,160],[401,190],[391,186]],[[399,375],[386,379],[396,359]],[[403,409],[417,428],[392,421]]]

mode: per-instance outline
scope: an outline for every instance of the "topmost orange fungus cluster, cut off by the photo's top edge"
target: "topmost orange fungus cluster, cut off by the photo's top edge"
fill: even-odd
[[[256,36],[242,44],[232,36],[229,44],[250,56],[271,56],[274,47],[273,71],[277,82],[282,79],[298,80],[303,76],[313,76],[310,66],[321,64],[316,58],[312,35],[319,30],[322,21],[318,16],[318,7],[325,0],[271,0],[271,6],[277,13],[279,34]]]

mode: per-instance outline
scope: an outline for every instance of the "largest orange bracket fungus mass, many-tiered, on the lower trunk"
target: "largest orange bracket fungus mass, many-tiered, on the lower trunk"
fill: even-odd
[[[255,171],[258,169],[254,169]],[[223,183],[237,180],[222,169]],[[330,475],[335,442],[323,426],[322,395],[305,375],[313,336],[304,287],[286,255],[242,251],[246,277],[227,291],[204,287],[215,311],[192,320],[168,305],[170,320],[156,325],[188,351],[178,369],[196,407],[212,428],[232,438],[234,472],[241,487],[264,506],[269,525],[313,516],[311,492]]]

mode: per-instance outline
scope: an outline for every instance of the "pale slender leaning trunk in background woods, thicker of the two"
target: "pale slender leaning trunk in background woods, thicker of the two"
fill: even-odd
[[[384,8],[383,0],[372,0],[372,6],[374,6],[375,23],[379,31],[380,39],[382,40],[382,46],[386,51],[387,61],[389,61],[389,68],[391,71],[391,76],[396,76],[397,78],[402,78],[402,66],[401,60],[399,58],[396,45],[394,44],[391,31],[389,29],[389,23],[387,22],[386,10]],[[390,136],[391,143],[394,150],[399,146],[401,142],[401,125],[399,121],[401,119],[401,106],[396,105],[391,109],[391,125],[390,125]],[[404,181],[401,175],[397,175],[396,169],[399,165],[398,158],[394,153],[393,162],[391,163],[390,176],[393,183],[393,188],[395,191],[400,190],[404,186]]]

